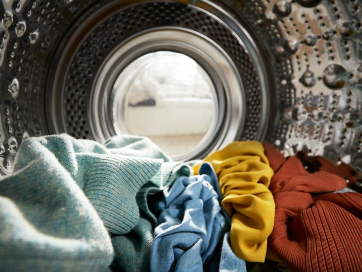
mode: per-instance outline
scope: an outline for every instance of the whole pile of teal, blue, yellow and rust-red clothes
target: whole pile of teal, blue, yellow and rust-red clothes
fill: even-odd
[[[29,138],[0,179],[0,271],[359,271],[357,177],[267,143],[191,165],[143,137]]]

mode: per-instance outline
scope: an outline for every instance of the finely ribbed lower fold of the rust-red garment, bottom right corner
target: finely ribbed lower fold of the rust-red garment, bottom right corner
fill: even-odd
[[[272,249],[293,271],[360,271],[362,195],[329,193],[313,200],[305,194],[275,196],[281,208],[269,238]]]

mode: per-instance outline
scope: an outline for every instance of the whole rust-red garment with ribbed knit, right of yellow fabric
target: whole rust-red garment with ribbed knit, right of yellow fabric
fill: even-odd
[[[309,173],[296,157],[285,159],[264,144],[275,175],[275,226],[271,249],[294,271],[358,271],[362,269],[362,195],[316,193],[343,189],[343,178],[319,171]],[[281,155],[281,156],[280,156]]]

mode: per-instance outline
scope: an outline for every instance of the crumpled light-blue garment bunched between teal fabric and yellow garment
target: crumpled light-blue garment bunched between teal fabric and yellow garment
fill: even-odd
[[[164,190],[152,246],[151,271],[202,271],[221,240],[226,220],[209,175],[178,178]],[[213,179],[213,180],[212,180]]]

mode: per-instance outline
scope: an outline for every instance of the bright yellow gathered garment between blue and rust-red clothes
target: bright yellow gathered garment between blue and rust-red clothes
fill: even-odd
[[[275,203],[268,186],[273,176],[259,142],[234,142],[206,157],[219,178],[222,206],[231,219],[231,246],[246,261],[264,262],[273,230]],[[198,173],[200,165],[194,167]]]

